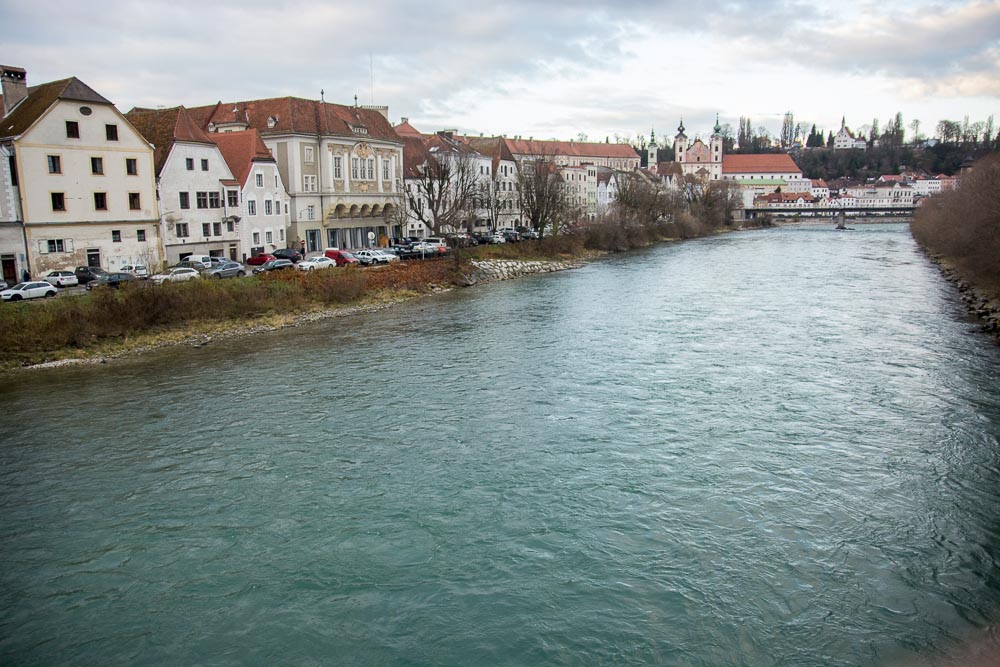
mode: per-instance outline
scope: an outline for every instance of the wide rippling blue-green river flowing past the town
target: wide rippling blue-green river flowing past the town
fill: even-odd
[[[8,378],[0,662],[995,654],[1000,350],[831,227]]]

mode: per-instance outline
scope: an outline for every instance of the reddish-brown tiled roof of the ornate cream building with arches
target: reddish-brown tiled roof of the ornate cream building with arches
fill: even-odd
[[[273,134],[322,134],[399,142],[389,121],[375,109],[344,106],[299,97],[276,97],[246,102],[218,102],[190,109],[203,129],[210,123],[246,123],[262,136]],[[364,129],[355,132],[353,127]]]

